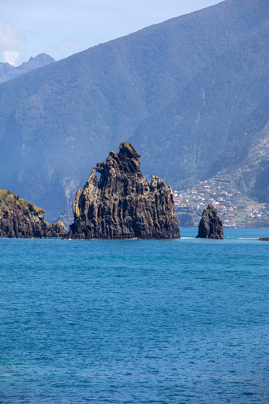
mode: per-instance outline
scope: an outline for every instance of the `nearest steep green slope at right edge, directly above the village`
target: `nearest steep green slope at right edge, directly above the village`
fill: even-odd
[[[234,132],[205,176],[218,173],[236,175],[241,192],[269,203],[269,94]]]

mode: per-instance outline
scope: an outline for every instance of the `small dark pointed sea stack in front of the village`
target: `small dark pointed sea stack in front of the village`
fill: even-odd
[[[212,204],[209,204],[203,211],[196,238],[223,239],[222,219]]]

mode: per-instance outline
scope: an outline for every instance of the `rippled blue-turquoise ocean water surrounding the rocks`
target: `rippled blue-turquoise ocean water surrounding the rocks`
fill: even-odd
[[[0,239],[0,402],[269,402],[269,230]]]

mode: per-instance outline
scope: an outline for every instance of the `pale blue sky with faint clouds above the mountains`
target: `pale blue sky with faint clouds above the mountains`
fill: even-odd
[[[66,58],[220,0],[2,0],[0,62]]]

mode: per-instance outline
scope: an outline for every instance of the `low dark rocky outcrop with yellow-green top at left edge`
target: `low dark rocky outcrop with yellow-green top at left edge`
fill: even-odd
[[[44,212],[14,193],[1,189],[0,237],[48,238],[66,234],[64,223],[46,223]]]

